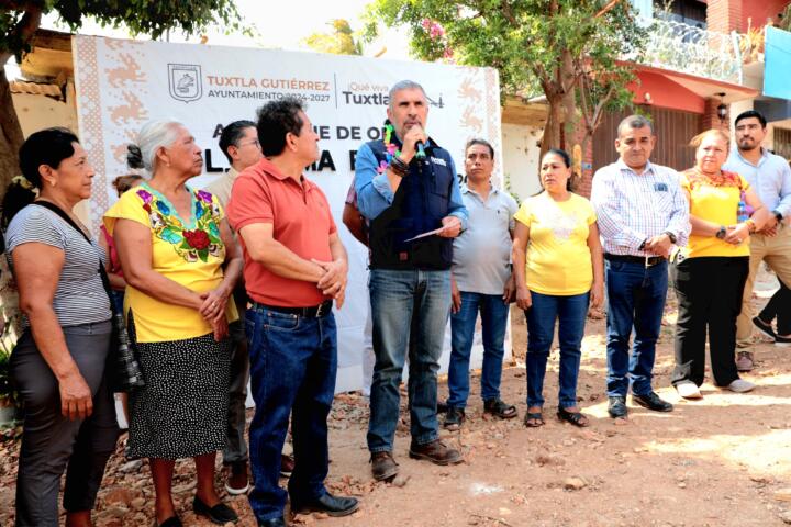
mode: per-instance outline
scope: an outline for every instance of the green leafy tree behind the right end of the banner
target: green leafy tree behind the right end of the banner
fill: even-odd
[[[633,74],[620,60],[638,57],[645,40],[627,0],[597,16],[606,3],[375,0],[366,13],[366,34],[376,36],[380,24],[405,25],[416,58],[447,59],[450,52],[458,64],[495,67],[503,92],[523,97],[543,92],[550,106],[581,111],[588,130],[595,126],[601,108],[631,100],[624,92]],[[442,36],[432,34],[433,24],[443,29]],[[559,113],[550,112],[550,121],[552,114]],[[567,124],[577,121],[578,115],[566,119]],[[546,130],[553,125],[552,146],[560,146],[557,123],[547,123]]]

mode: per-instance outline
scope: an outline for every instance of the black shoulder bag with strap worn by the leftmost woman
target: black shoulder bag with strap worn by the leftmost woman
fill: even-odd
[[[48,201],[36,201],[34,204],[43,206],[53,211],[55,214],[60,216],[64,222],[68,223],[71,228],[77,231],[86,238],[90,245],[91,239],[88,235],[77,226],[77,224],[66,214],[59,206]],[[135,357],[134,345],[126,330],[126,324],[123,319],[123,314],[119,313],[115,309],[115,302],[112,298],[112,288],[110,287],[110,278],[107,274],[104,266],[99,265],[99,276],[101,277],[102,284],[104,285],[104,292],[110,301],[110,310],[112,311],[112,327],[113,336],[110,344],[110,355],[108,356],[108,380],[110,388],[113,392],[131,392],[133,390],[143,388],[145,382],[143,381],[143,373],[141,372],[140,363]]]

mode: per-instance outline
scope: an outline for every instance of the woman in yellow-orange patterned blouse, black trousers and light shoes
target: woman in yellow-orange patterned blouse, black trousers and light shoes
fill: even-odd
[[[679,302],[672,383],[684,399],[700,399],[709,330],[714,384],[734,392],[755,385],[739,379],[734,360],[736,317],[749,268],[749,235],[769,213],[747,181],[722,170],[728,137],[718,130],[695,136],[695,166],[681,175],[692,233],[672,258],[670,276]],[[751,217],[750,217],[751,214]]]

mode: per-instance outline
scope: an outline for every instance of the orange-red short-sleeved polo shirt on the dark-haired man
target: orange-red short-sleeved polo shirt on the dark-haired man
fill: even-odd
[[[305,260],[332,260],[330,236],[337,232],[324,192],[302,177],[294,181],[268,159],[242,171],[229,203],[231,226],[241,232],[256,223],[272,225],[274,238]],[[244,238],[244,278],[256,302],[282,307],[310,307],[328,300],[315,283],[276,274],[250,258]]]

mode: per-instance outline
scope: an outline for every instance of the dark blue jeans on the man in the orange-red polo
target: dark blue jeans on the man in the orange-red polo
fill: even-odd
[[[259,520],[280,517],[280,453],[291,414],[296,467],[289,480],[291,501],[302,503],[326,493],[330,462],[327,415],[335,392],[337,340],[335,318],[285,314],[256,304],[247,310],[255,416],[249,458],[255,487],[249,502]]]

